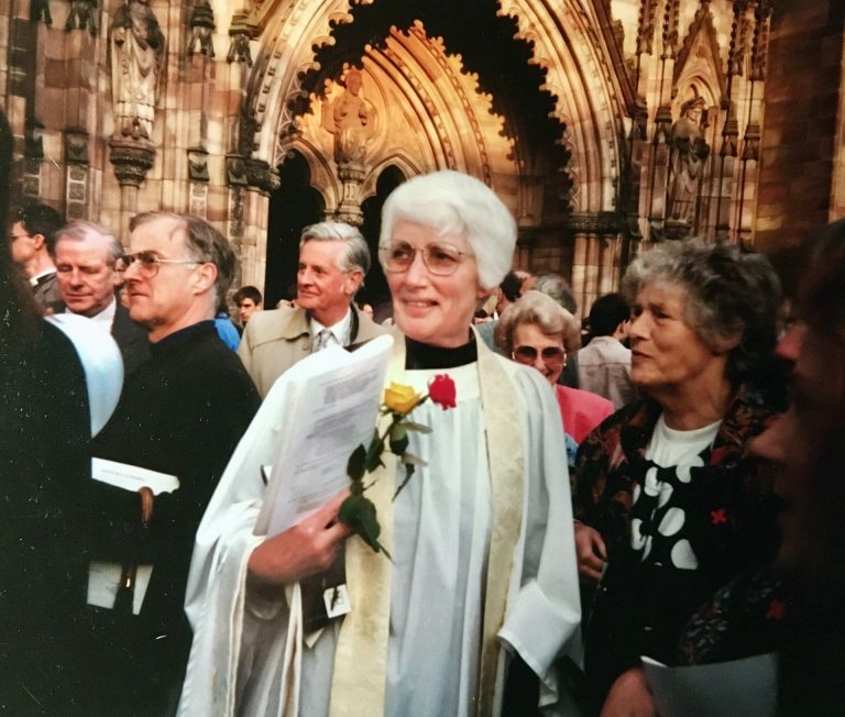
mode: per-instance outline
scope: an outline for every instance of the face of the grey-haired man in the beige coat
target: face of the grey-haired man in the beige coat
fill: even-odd
[[[359,269],[340,269],[345,246],[342,241],[310,241],[299,250],[296,305],[327,327],[345,316],[363,278]]]

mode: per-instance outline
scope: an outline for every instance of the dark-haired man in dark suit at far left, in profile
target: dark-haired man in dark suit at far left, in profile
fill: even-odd
[[[45,313],[63,310],[56,267],[51,254],[56,231],[64,223],[53,207],[31,203],[12,212],[8,230],[12,261],[23,269],[32,286],[32,293]]]

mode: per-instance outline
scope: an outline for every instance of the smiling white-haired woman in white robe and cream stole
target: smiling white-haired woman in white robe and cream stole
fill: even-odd
[[[580,604],[560,412],[538,372],[471,328],[515,242],[507,208],[467,175],[425,175],[388,197],[380,258],[402,332],[388,380],[425,391],[448,374],[457,406],[415,409],[432,431],[410,433],[408,451],[426,465],[395,501],[404,470],[397,479],[388,461],[377,474],[391,561],[337,521],[342,495],[286,532],[254,534],[259,467],[289,420],[279,379],[197,534],[180,714],[495,715],[515,655],[539,677],[544,709],[566,712],[553,668],[575,651]],[[303,636],[290,587],[341,549],[352,611]]]

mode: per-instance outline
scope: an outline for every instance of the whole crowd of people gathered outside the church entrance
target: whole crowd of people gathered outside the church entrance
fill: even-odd
[[[11,209],[9,147],[0,114],[0,710],[646,717],[643,657],[776,654],[745,692],[843,714],[845,223],[808,246],[788,323],[764,256],[692,239],[643,251],[582,327],[563,277],[511,271],[495,194],[437,172],[384,205],[392,326],[355,304],[360,231],[321,222],[295,305],[240,288],[227,345],[223,235]],[[389,558],[347,490],[262,533],[297,420],[279,379],[384,334],[391,386],[452,390],[391,437],[411,481],[374,466]],[[304,627],[299,586],[338,564],[351,608]]]

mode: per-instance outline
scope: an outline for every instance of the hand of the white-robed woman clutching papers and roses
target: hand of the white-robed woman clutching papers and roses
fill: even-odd
[[[250,582],[256,587],[286,585],[328,570],[351,533],[349,526],[338,521],[348,495],[342,490],[314,515],[255,548],[250,555]]]

